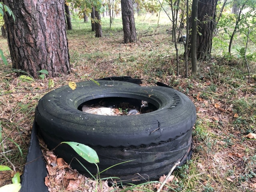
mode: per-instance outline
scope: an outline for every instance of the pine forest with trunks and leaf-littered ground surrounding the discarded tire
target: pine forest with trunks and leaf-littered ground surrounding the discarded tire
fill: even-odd
[[[193,156],[161,191],[255,191],[255,22],[253,0],[0,2],[0,164],[11,168],[0,171],[0,187],[23,173],[43,95],[129,75],[172,86],[197,109]],[[95,190],[54,179],[51,191]]]

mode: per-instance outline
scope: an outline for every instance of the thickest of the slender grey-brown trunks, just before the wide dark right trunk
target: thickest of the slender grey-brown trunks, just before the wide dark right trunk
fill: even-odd
[[[198,10],[198,0],[193,0],[192,2],[192,32],[191,32],[191,62],[192,62],[192,71],[191,75],[195,76],[198,74],[197,67],[197,10]]]

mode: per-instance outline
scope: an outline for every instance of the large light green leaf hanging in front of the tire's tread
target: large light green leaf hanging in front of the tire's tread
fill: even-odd
[[[99,163],[99,157],[92,148],[88,147],[87,145],[77,143],[77,142],[62,142],[68,144],[72,147],[75,152],[78,153],[81,157],[87,160],[89,163]]]

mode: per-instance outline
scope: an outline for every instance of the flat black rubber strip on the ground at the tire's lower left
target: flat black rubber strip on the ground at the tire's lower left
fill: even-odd
[[[28,164],[24,166],[20,192],[48,192],[48,187],[44,184],[47,169],[42,154],[38,142],[38,127],[34,123],[26,157],[26,163]]]

